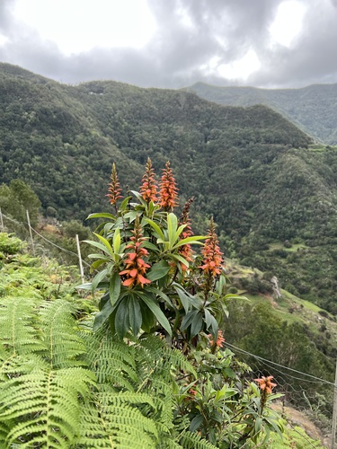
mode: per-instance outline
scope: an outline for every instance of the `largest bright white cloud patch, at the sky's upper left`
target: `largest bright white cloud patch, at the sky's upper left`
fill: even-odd
[[[146,0],[17,0],[16,18],[65,55],[91,48],[143,48],[156,22]]]

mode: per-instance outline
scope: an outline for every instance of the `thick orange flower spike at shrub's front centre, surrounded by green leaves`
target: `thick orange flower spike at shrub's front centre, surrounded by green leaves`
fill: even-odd
[[[150,265],[142,259],[148,255],[148,251],[146,248],[142,247],[146,238],[142,236],[142,229],[139,225],[138,218],[132,233],[134,235],[130,238],[130,242],[126,246],[126,249],[131,250],[128,252],[127,259],[125,260],[126,269],[120,271],[120,276],[126,277],[122,283],[123,286],[141,286],[144,288],[145,284],[151,283],[151,281],[144,276],[146,274],[146,269],[149,269]]]

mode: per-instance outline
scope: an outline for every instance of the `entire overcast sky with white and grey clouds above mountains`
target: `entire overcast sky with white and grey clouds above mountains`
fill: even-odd
[[[337,0],[0,0],[0,61],[63,83],[337,83]]]

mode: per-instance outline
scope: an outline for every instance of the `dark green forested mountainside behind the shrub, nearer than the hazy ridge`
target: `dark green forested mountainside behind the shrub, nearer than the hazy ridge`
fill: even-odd
[[[262,105],[113,81],[58,84],[0,65],[0,182],[21,178],[45,214],[84,220],[109,210],[111,163],[126,192],[148,156],[158,176],[170,160],[181,205],[195,196],[196,231],[214,215],[226,256],[337,314],[337,150],[312,144]]]

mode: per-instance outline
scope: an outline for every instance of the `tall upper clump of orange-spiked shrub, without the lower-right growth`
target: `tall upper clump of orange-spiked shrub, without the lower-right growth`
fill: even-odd
[[[109,320],[120,338],[139,332],[159,332],[172,338],[176,348],[200,339],[200,332],[217,338],[218,325],[226,314],[226,277],[213,219],[207,236],[193,235],[189,217],[193,198],[178,220],[176,182],[170,163],[165,164],[159,197],[155,172],[148,159],[140,193],[123,197],[116,167],[112,165],[108,198],[115,214],[97,229],[100,250],[91,254],[99,269],[91,288],[105,290],[95,329]],[[135,201],[136,200],[136,201]],[[120,204],[119,204],[120,202]],[[206,240],[200,255],[192,246]]]

